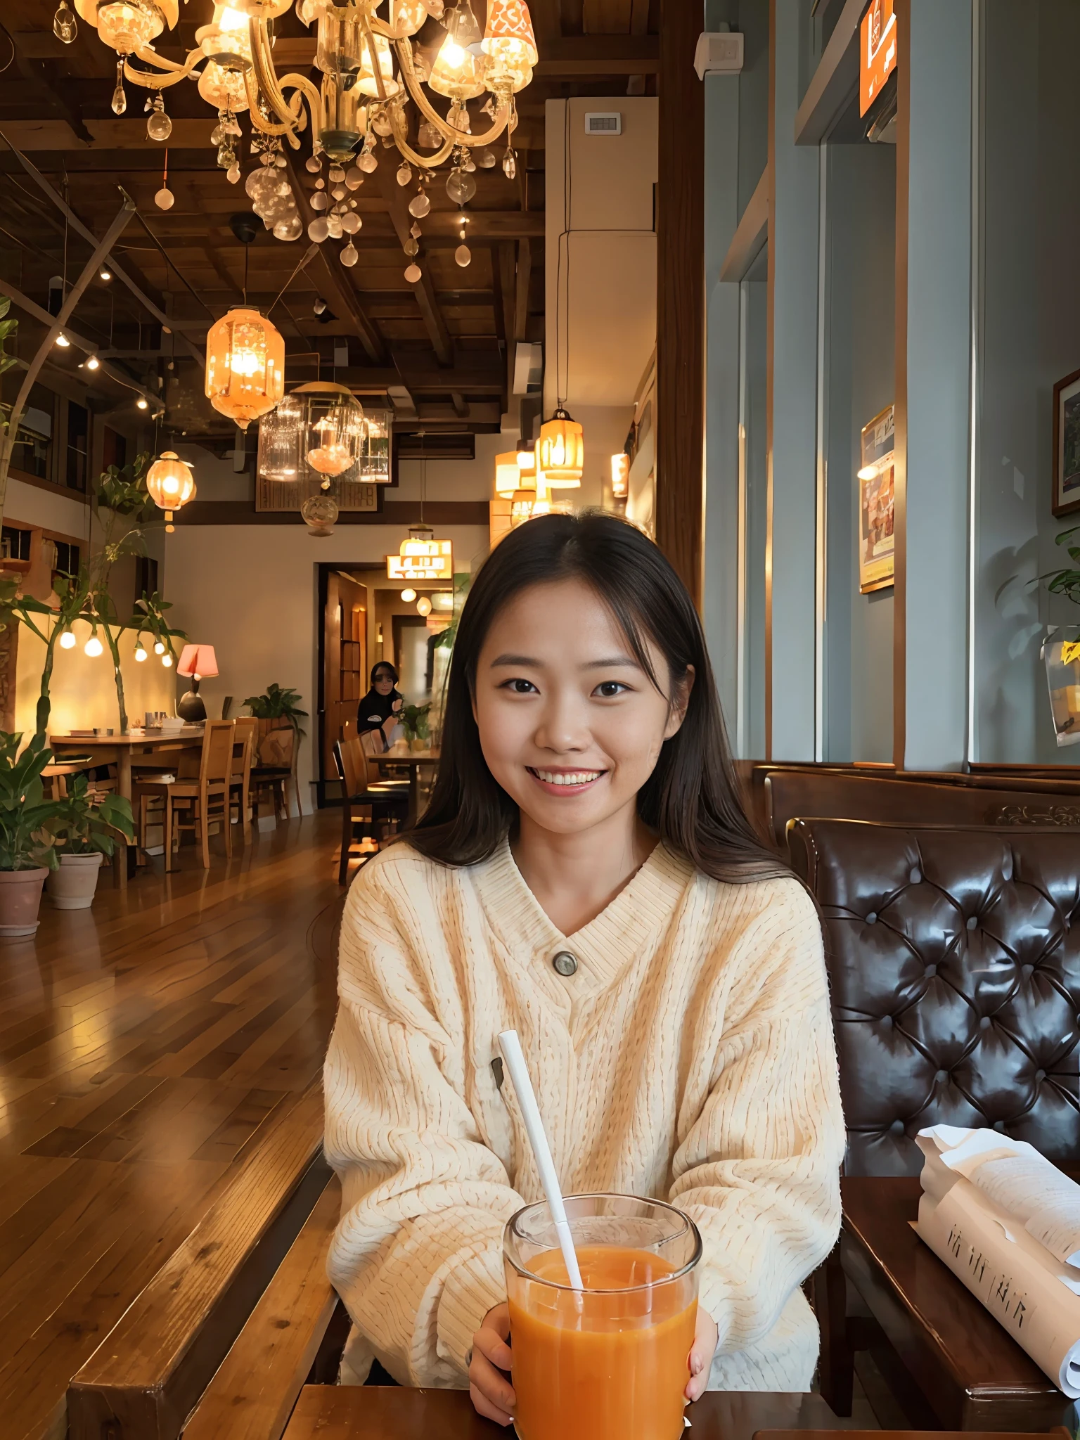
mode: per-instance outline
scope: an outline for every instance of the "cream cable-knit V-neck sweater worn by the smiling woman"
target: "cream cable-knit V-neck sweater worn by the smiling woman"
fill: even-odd
[[[402,1384],[468,1384],[472,1333],[505,1299],[503,1227],[541,1198],[491,1070],[514,1028],[566,1194],[660,1197],[697,1221],[710,1388],[809,1388],[799,1284],[837,1238],[844,1119],[821,930],[795,880],[721,884],[657,845],[567,937],[508,845],[445,868],[399,844],[348,893],[338,988],[328,1273],[359,1378],[374,1352]]]

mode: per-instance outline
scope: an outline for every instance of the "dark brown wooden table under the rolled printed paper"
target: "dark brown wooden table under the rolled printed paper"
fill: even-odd
[[[937,1423],[966,1431],[1071,1427],[1073,1403],[912,1230],[919,1179],[852,1176],[841,1194],[844,1272]]]

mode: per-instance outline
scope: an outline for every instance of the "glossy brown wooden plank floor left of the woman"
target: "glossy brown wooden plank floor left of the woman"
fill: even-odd
[[[321,1068],[334,1017],[337,811],[0,940],[0,1436],[65,1433],[63,1394]]]

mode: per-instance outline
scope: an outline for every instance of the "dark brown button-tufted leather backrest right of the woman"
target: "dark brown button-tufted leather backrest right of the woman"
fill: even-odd
[[[848,1175],[916,1175],[926,1125],[1080,1158],[1080,834],[796,819],[816,896]]]

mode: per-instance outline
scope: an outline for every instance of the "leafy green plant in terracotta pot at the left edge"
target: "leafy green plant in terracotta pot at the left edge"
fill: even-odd
[[[62,801],[46,801],[42,770],[52,760],[45,736],[19,753],[22,734],[0,730],[0,936],[33,935],[42,886],[56,868],[53,835]]]

